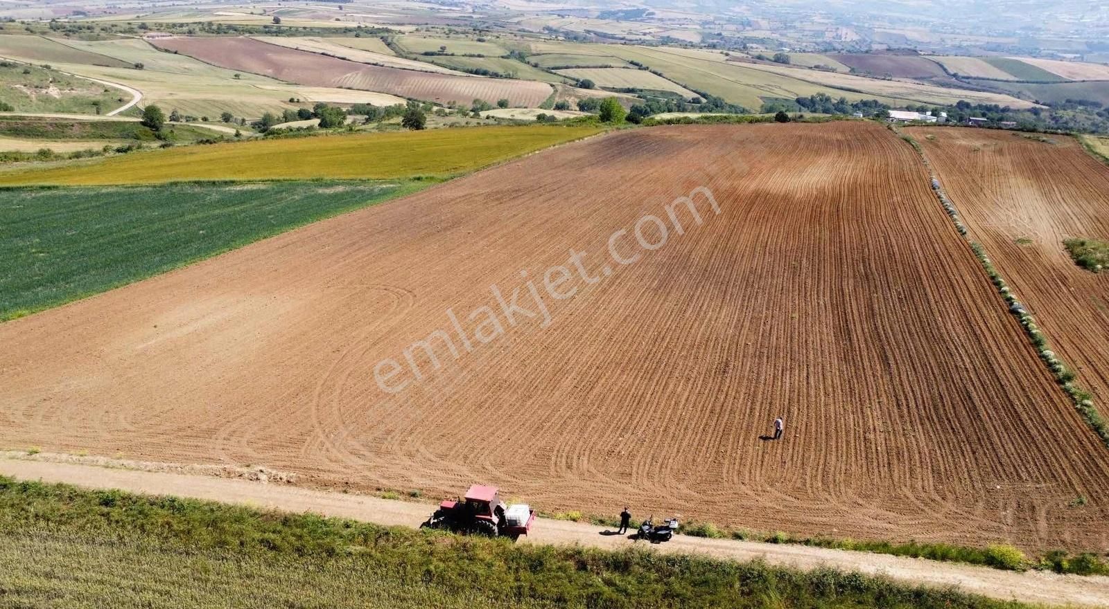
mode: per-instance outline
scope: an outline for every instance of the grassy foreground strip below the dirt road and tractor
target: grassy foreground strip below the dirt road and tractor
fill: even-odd
[[[0,591],[18,607],[1026,607],[826,568],[512,545],[6,477]]]

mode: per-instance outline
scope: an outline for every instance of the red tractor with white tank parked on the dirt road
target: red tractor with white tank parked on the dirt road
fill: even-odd
[[[531,530],[536,510],[526,504],[505,505],[492,486],[475,484],[465,499],[446,500],[420,528],[439,528],[467,535],[509,537],[513,541]]]

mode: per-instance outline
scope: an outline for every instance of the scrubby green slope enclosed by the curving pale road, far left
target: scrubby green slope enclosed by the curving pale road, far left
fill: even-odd
[[[131,95],[39,65],[13,62],[0,65],[0,102],[14,112],[106,114],[123,105],[120,99],[130,101]]]

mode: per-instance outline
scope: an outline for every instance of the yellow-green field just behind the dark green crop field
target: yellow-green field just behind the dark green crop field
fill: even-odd
[[[235,142],[2,173],[0,184],[448,176],[601,131],[594,125],[490,126]]]

